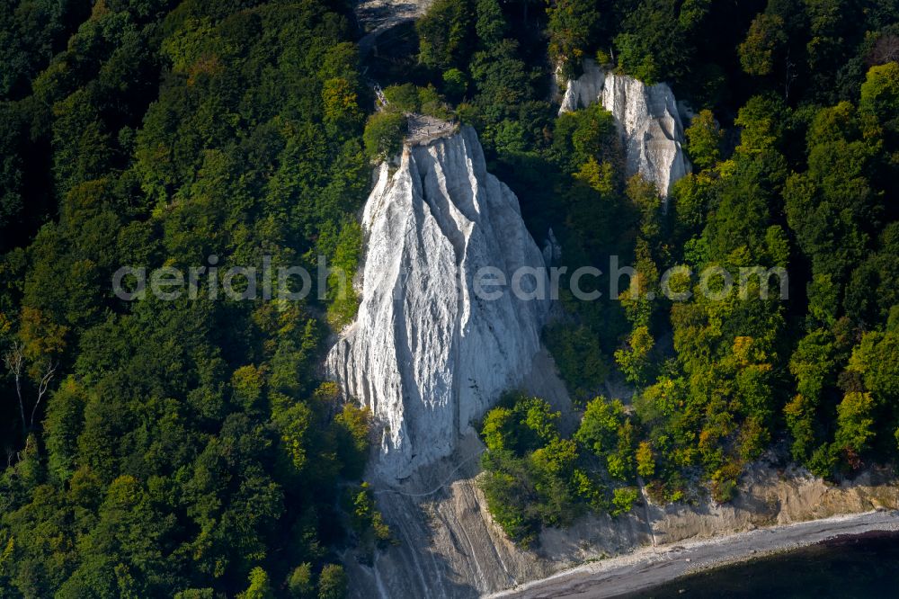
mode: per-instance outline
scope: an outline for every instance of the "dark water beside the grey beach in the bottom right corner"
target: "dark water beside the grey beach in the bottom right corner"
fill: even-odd
[[[690,575],[632,599],[899,599],[899,535],[868,534]]]

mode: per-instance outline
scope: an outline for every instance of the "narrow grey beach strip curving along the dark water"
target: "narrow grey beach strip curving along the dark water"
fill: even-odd
[[[703,570],[870,532],[899,532],[899,511],[841,514],[697,541],[643,547],[626,555],[592,561],[486,597],[618,597],[645,591]]]

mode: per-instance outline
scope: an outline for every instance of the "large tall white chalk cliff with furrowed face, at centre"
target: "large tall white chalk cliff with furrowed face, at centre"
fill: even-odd
[[[405,478],[449,456],[469,422],[528,373],[549,300],[524,296],[546,289],[547,274],[518,199],[486,172],[469,127],[405,148],[394,174],[381,165],[362,226],[359,314],[326,369],[381,427],[376,473]],[[507,286],[476,293],[485,268]]]

